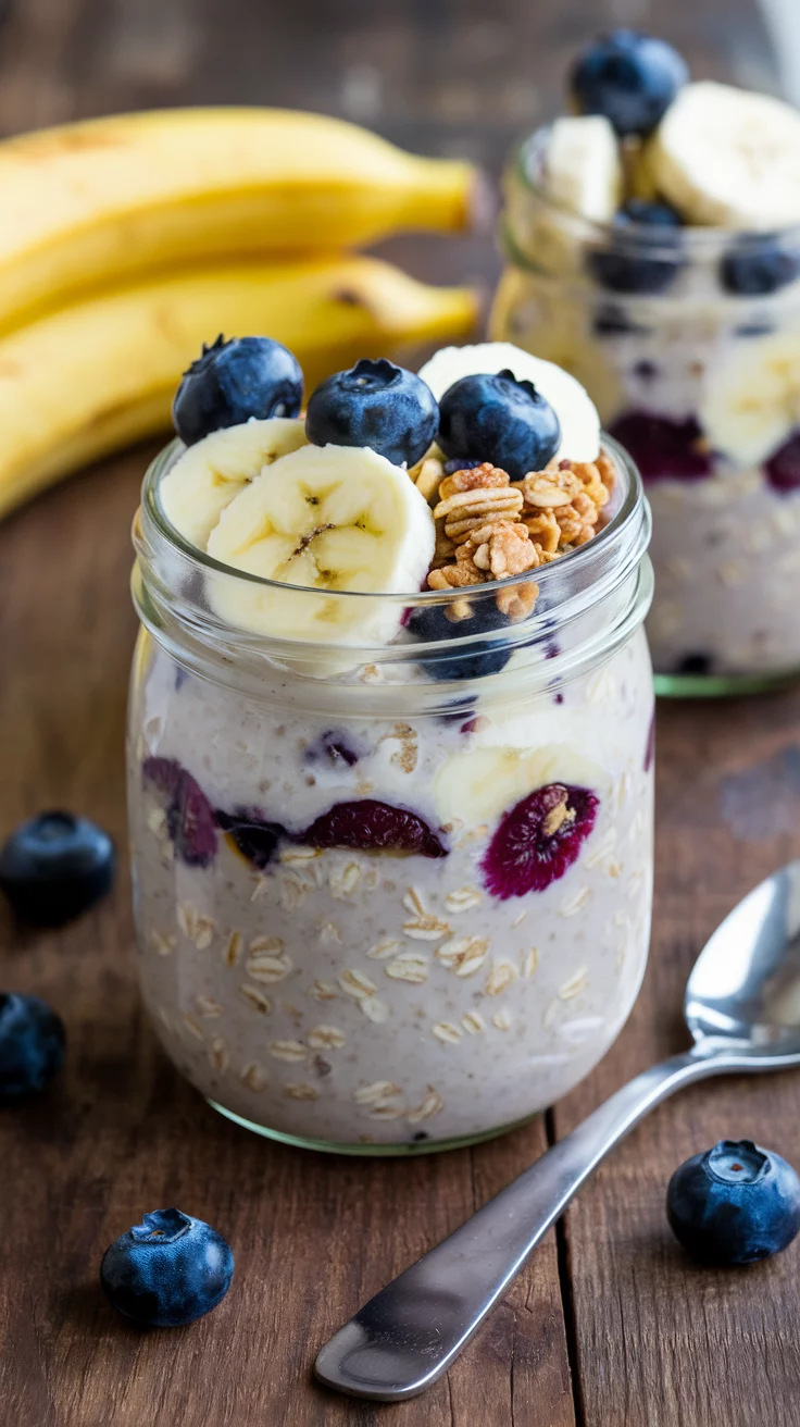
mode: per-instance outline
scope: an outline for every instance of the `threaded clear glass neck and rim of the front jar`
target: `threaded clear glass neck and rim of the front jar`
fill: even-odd
[[[419,688],[422,676],[429,701],[425,695],[421,704],[453,708],[475,685],[486,695],[496,691],[498,696],[509,696],[503,671],[512,656],[512,692],[552,685],[613,654],[645,618],[652,595],[645,558],[650,509],[642,478],[616,441],[603,435],[602,448],[617,474],[617,494],[605,528],[579,549],[506,581],[465,589],[366,594],[285,585],[234,569],[188,544],[158,499],[160,482],[183,450],[174,441],[147,471],[134,518],[134,605],[143,625],[178,664],[254,692],[271,666],[277,671],[270,675],[272,684],[284,674],[292,676],[292,684],[324,679],[342,689],[344,702],[349,686],[358,701],[369,696],[378,705],[384,699],[389,709],[399,708],[398,698],[402,702],[406,696],[402,689],[415,681]],[[539,591],[532,612],[498,621],[498,591],[525,584]],[[291,624],[292,635],[221,614],[237,608],[237,601],[228,602],[231,592],[237,601],[258,601],[261,592],[288,599],[292,615],[299,611],[299,621]],[[446,608],[436,621],[435,606],[461,601],[466,602],[463,628],[459,618],[448,619]],[[418,609],[434,611],[428,625],[414,619]],[[297,634],[297,628],[302,632]]]

